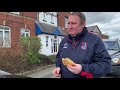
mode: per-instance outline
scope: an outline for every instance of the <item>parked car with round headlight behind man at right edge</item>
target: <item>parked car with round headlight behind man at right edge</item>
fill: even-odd
[[[109,75],[120,76],[120,40],[103,39],[103,42],[112,58],[112,68]]]

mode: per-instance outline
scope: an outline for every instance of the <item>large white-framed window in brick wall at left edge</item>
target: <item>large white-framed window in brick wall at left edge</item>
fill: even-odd
[[[10,47],[10,27],[0,25],[0,47]]]

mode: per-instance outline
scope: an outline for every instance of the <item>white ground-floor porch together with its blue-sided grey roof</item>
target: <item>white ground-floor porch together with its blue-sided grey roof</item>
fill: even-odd
[[[41,54],[53,55],[57,54],[59,44],[65,37],[65,33],[60,28],[41,22],[35,23],[36,35],[41,39]]]

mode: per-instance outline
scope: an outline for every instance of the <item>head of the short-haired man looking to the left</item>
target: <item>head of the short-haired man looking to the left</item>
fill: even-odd
[[[68,17],[68,34],[75,37],[86,26],[86,17],[81,12],[71,12]]]

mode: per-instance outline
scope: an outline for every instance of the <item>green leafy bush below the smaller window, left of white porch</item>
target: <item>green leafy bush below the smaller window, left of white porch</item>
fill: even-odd
[[[21,60],[27,59],[29,63],[35,64],[40,61],[39,50],[41,50],[41,39],[38,37],[23,37],[20,39]]]

